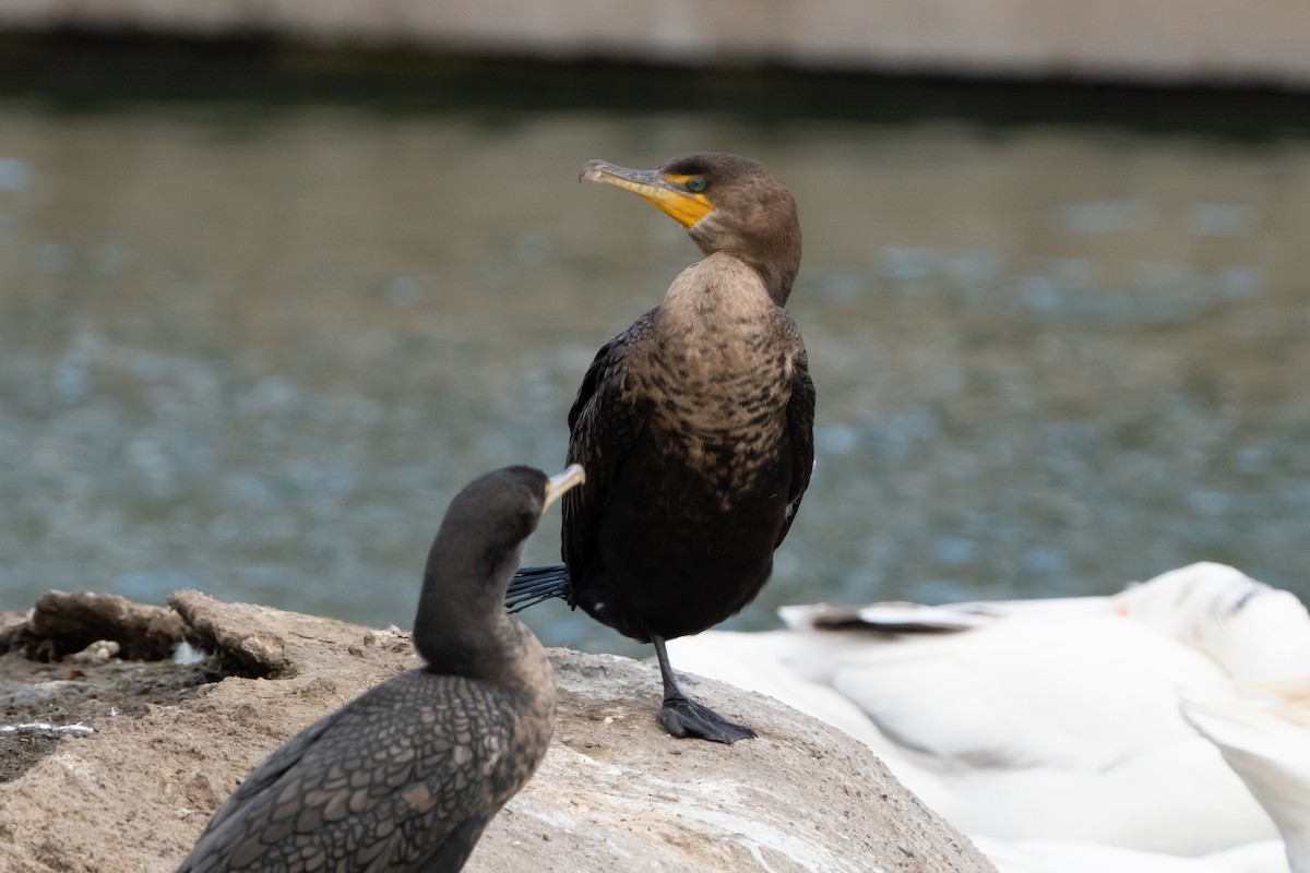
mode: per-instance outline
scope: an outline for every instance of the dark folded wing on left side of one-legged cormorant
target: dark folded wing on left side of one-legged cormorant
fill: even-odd
[[[569,463],[580,463],[587,480],[563,496],[563,559],[572,584],[593,556],[596,518],[609,503],[609,490],[629,449],[646,425],[643,410],[622,398],[627,349],[650,329],[650,310],[600,347],[569,410]]]

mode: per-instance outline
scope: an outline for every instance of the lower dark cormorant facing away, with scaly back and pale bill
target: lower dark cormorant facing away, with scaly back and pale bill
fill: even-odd
[[[426,668],[354,699],[252,772],[179,873],[458,870],[546,753],[555,683],[502,607],[545,508],[583,480],[507,467],[451,503],[423,573],[414,647]]]

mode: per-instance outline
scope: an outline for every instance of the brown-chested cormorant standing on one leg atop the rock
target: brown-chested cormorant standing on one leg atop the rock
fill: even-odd
[[[664,640],[755,598],[810,484],[815,389],[782,309],[800,264],[795,200],[735,154],[591,161],[582,178],[641,195],[706,257],[587,369],[569,412],[569,462],[587,483],[563,503],[565,564],[523,568],[507,605],[565,597],[652,643],[675,737],[753,737],[683,694]]]

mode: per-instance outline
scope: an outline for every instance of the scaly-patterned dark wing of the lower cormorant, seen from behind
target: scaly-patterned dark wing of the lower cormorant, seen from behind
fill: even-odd
[[[504,800],[493,802],[482,774],[511,750],[510,717],[494,690],[462,677],[384,682],[255,768],[178,873],[282,870],[320,853],[324,869],[359,870],[466,857]]]

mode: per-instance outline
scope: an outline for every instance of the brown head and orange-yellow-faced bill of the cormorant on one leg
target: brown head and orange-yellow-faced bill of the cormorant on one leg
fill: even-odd
[[[753,266],[779,306],[800,267],[800,220],[787,187],[758,161],[689,152],[654,170],[588,161],[580,179],[631,191],[680,225],[706,255],[727,251]]]

